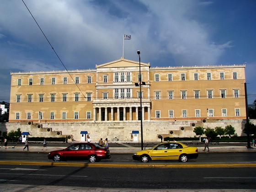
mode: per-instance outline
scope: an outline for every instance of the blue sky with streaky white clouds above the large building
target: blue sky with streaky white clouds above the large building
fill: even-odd
[[[24,0],[68,70],[123,55],[152,67],[244,64],[256,100],[256,0]],[[12,72],[65,70],[22,0],[0,6],[0,101]]]

